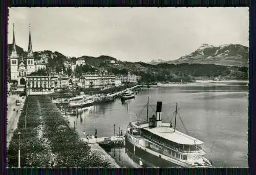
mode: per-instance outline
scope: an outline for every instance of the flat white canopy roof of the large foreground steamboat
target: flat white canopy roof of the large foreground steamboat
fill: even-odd
[[[179,144],[188,144],[188,145],[195,145],[196,144],[203,144],[204,142],[198,140],[194,137],[181,133],[179,131],[174,132],[174,128],[170,127],[156,127],[156,128],[144,128],[155,135],[158,135],[166,140],[170,140]]]

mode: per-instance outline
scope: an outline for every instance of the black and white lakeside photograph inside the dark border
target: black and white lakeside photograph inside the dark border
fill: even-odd
[[[248,7],[12,7],[7,167],[248,167]]]

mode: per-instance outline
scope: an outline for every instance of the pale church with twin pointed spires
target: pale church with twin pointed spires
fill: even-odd
[[[25,86],[27,75],[35,71],[30,24],[29,24],[29,45],[28,45],[27,57],[23,59],[23,57],[20,57],[17,54],[15,35],[14,35],[14,24],[13,24],[12,50],[8,60],[10,62],[11,81],[12,82],[16,81],[18,86]]]

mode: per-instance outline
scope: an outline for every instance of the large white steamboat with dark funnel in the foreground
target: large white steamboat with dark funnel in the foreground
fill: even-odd
[[[143,159],[164,162],[169,167],[211,167],[211,162],[205,158],[204,142],[176,130],[177,106],[174,127],[172,123],[162,122],[161,110],[162,102],[157,102],[156,117],[153,115],[149,122],[129,123],[125,135],[126,147],[133,149],[134,154],[140,152]]]

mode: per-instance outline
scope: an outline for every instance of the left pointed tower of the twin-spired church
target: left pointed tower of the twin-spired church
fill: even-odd
[[[13,37],[12,37],[12,52],[9,60],[10,60],[11,80],[17,80],[18,55],[17,55],[16,43],[15,43],[14,23],[13,23]]]

